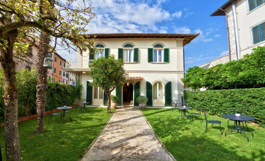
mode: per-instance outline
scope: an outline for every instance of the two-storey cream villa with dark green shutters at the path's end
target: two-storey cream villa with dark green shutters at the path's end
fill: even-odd
[[[147,96],[147,106],[172,106],[181,100],[184,74],[183,49],[199,34],[89,34],[94,37],[95,54],[78,54],[78,60],[67,60],[65,70],[76,73],[83,85],[82,99],[91,105],[106,105],[108,98],[101,87],[90,87],[86,71],[94,59],[114,54],[124,60],[129,73],[123,87],[112,92],[119,97],[118,106],[138,106],[135,98]],[[79,77],[80,76],[80,77]]]

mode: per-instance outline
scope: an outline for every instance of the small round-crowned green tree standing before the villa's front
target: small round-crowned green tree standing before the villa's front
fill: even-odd
[[[108,112],[111,112],[111,92],[116,87],[122,87],[128,76],[123,60],[115,59],[114,55],[108,58],[100,57],[93,61],[88,73],[93,78],[90,85],[104,89],[104,93],[108,96]]]

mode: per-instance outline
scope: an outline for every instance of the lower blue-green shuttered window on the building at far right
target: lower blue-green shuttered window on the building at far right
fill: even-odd
[[[265,41],[265,22],[252,28],[253,44]]]

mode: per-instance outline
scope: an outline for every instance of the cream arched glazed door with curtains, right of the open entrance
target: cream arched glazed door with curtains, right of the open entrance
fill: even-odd
[[[161,82],[156,82],[153,85],[153,106],[163,105],[163,85]]]

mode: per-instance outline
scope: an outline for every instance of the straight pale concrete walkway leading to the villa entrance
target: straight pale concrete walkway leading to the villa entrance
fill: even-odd
[[[138,108],[117,109],[81,161],[173,161]]]

